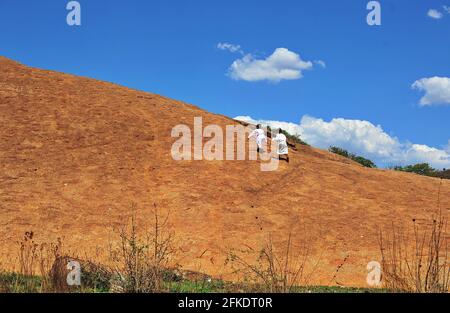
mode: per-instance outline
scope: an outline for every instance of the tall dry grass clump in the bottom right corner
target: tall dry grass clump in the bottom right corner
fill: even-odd
[[[419,225],[406,232],[392,225],[380,232],[383,284],[393,291],[443,293],[450,288],[447,219],[439,212],[431,225]]]

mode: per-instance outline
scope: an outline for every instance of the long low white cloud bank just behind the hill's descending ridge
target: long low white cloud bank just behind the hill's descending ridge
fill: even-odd
[[[300,124],[254,120],[249,116],[235,119],[283,128],[300,135],[309,144],[322,149],[338,146],[375,161],[381,166],[429,163],[436,168],[450,167],[450,141],[443,149],[422,144],[401,142],[387,134],[380,125],[368,121],[335,118],[327,122],[320,118],[303,116]]]

